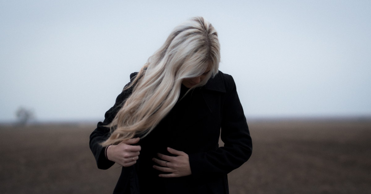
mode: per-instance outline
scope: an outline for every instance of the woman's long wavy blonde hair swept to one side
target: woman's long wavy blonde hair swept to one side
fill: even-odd
[[[111,135],[102,145],[148,135],[178,101],[182,80],[200,76],[211,66],[206,79],[192,88],[204,85],[218,72],[219,62],[217,32],[203,17],[194,17],[175,27],[164,45],[124,88],[134,87],[107,125]]]

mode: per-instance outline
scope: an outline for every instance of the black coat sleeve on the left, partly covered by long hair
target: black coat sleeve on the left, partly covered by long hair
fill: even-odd
[[[132,73],[130,75],[131,80],[133,80],[134,76],[136,76],[136,73]],[[130,83],[128,83],[130,84]],[[115,118],[117,112],[122,106],[122,103],[131,95],[132,88],[129,88],[127,90],[122,91],[116,98],[116,102],[114,106],[112,106],[104,115],[105,119],[103,122],[98,122],[96,129],[92,132],[90,135],[90,141],[89,141],[89,147],[91,151],[93,152],[93,155],[96,160],[96,164],[99,169],[108,169],[112,165],[115,164],[115,162],[110,161],[105,156],[105,149],[106,147],[102,147],[100,144],[101,142],[104,142],[106,139],[108,139],[110,135],[110,129],[108,127],[105,127],[105,125],[108,125],[112,122],[112,120]]]

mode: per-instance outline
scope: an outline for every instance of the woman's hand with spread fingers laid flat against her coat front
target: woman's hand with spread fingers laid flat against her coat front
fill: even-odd
[[[168,156],[164,154],[157,154],[161,160],[153,158],[152,160],[158,165],[153,165],[153,168],[162,172],[171,172],[170,174],[159,174],[159,177],[184,177],[191,175],[191,166],[189,164],[188,154],[172,148],[167,148],[170,154],[177,156]]]

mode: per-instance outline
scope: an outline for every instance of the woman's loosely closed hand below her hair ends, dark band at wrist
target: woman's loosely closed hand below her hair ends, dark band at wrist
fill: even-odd
[[[107,148],[107,159],[123,167],[134,165],[141,150],[140,145],[131,145],[139,142],[140,138],[133,138],[122,141],[117,145],[109,145]]]

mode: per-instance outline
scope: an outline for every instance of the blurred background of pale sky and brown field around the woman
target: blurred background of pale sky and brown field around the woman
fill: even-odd
[[[193,16],[253,139],[230,193],[370,193],[368,0],[0,0],[0,192],[112,193],[121,169],[96,167],[89,135]]]

